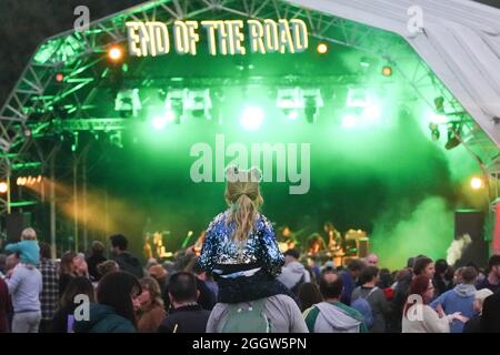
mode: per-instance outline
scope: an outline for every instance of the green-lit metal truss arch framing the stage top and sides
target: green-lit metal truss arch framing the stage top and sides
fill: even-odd
[[[300,8],[284,0],[157,0],[93,22],[87,31],[68,31],[52,37],[39,47],[6,104],[0,109],[0,178],[9,178],[12,166],[19,164],[31,161],[47,162],[37,139],[48,132],[124,129],[123,120],[96,119],[89,114],[88,109],[92,106],[100,78],[106,74],[98,67],[103,55],[96,54],[104,53],[112,43],[126,41],[126,22],[171,23],[181,19],[199,19],[207,14],[211,19],[227,19],[231,16],[302,19],[308,23],[313,38],[354,48],[384,60],[397,69],[408,85],[419,93],[430,108],[433,109],[433,98],[443,97],[453,113],[463,112],[449,90],[398,34]],[[54,82],[57,73],[64,75],[63,82]],[[222,78],[220,82],[223,83],[223,80],[228,79]],[[290,82],[293,80],[298,79],[290,78]],[[199,84],[202,84],[202,78],[198,79]],[[213,83],[213,79],[210,81]],[[336,81],[324,78],[324,82],[356,84],[356,79],[343,78]],[[207,82],[206,85],[210,84]],[[473,154],[480,156],[488,173],[498,178],[498,148],[469,115],[463,113],[456,118],[463,121],[463,143]],[[8,201],[0,199],[0,211],[6,210],[2,206],[7,203]]]

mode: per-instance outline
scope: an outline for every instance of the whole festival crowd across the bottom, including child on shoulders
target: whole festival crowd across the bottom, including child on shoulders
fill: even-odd
[[[228,210],[210,223],[200,255],[142,265],[128,240],[50,258],[33,229],[0,257],[0,332],[13,333],[480,333],[500,332],[500,255],[486,270],[410,257],[322,265],[281,253],[259,212],[258,172],[228,181]],[[257,181],[256,181],[257,180]]]

